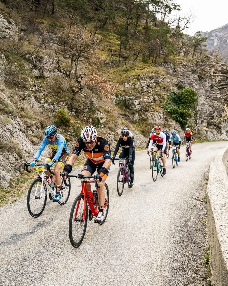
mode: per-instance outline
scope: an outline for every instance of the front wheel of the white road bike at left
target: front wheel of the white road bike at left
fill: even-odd
[[[44,211],[47,202],[47,189],[43,184],[42,198],[40,197],[42,179],[36,178],[28,191],[27,208],[32,217],[38,217]]]

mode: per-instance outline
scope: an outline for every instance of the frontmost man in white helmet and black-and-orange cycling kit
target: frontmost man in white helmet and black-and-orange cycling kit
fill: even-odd
[[[82,167],[82,175],[92,176],[97,170],[97,182],[100,186],[98,193],[99,213],[95,220],[103,221],[104,219],[104,202],[105,202],[105,181],[108,177],[109,168],[111,165],[111,150],[106,138],[97,136],[96,128],[93,126],[86,126],[82,129],[81,136],[78,138],[73,153],[65,165],[63,172],[64,178],[72,171],[77,157],[81,150],[87,155],[87,160]],[[88,191],[91,191],[91,185],[87,184]]]

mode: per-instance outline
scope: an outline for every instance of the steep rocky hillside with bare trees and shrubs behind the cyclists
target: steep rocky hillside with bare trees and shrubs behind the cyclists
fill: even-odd
[[[141,148],[154,124],[180,133],[190,126],[201,139],[224,133],[228,113],[217,106],[225,99],[216,97],[214,112],[201,91],[206,82],[215,89],[210,73],[227,67],[208,57],[200,32],[184,34],[190,17],[170,18],[178,10],[174,0],[1,1],[3,201],[52,123],[70,149],[87,124],[112,148],[125,126]]]

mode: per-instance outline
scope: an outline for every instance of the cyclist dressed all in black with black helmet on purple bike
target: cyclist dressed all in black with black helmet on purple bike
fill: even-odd
[[[129,137],[129,130],[123,129],[121,131],[121,137],[119,138],[116,146],[115,151],[112,157],[112,162],[114,163],[115,156],[119,150],[120,147],[122,147],[122,151],[120,153],[119,158],[126,158],[128,156],[129,158],[129,170],[130,170],[130,177],[131,182],[129,187],[132,188],[134,185],[134,159],[135,159],[135,151],[134,151],[134,139],[132,137]]]

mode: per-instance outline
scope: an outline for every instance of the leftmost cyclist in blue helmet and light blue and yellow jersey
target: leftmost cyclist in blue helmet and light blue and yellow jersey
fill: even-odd
[[[48,126],[44,131],[45,137],[40,144],[37,153],[34,155],[33,161],[30,163],[30,166],[34,166],[37,163],[42,151],[48,144],[51,147],[51,154],[44,160],[45,165],[49,167],[54,163],[57,163],[55,167],[54,175],[56,176],[56,196],[53,198],[53,202],[59,201],[61,199],[61,177],[60,172],[63,169],[66,160],[68,158],[68,147],[65,138],[57,133],[57,128],[54,125]],[[51,174],[46,174],[47,176]]]

